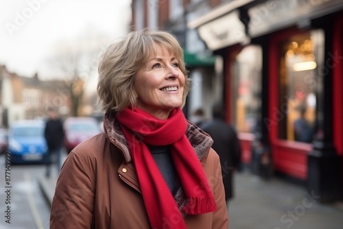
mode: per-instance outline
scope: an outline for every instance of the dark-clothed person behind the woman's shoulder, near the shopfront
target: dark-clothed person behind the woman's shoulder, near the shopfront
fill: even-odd
[[[233,173],[240,169],[241,147],[235,129],[224,120],[224,107],[216,103],[212,109],[213,119],[200,128],[213,138],[213,149],[220,156],[226,202],[233,198]]]

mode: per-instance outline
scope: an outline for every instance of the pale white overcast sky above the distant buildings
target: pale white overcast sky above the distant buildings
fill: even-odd
[[[56,44],[82,34],[114,40],[128,32],[130,0],[0,0],[0,64],[25,77],[53,76]],[[93,38],[96,36],[93,36]]]

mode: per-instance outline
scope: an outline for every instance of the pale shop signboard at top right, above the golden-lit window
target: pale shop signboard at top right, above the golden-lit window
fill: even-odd
[[[256,37],[287,26],[307,25],[311,19],[342,8],[342,0],[268,0],[248,10],[248,34]]]

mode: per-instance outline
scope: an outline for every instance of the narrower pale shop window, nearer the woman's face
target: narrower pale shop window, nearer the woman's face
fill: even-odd
[[[233,64],[233,117],[237,131],[254,133],[261,119],[261,47],[244,47]]]

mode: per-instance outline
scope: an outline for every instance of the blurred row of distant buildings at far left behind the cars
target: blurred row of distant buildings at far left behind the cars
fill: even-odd
[[[43,119],[54,106],[62,117],[71,110],[70,93],[64,81],[42,81],[38,75],[21,77],[0,66],[0,126],[9,128],[13,121]]]

